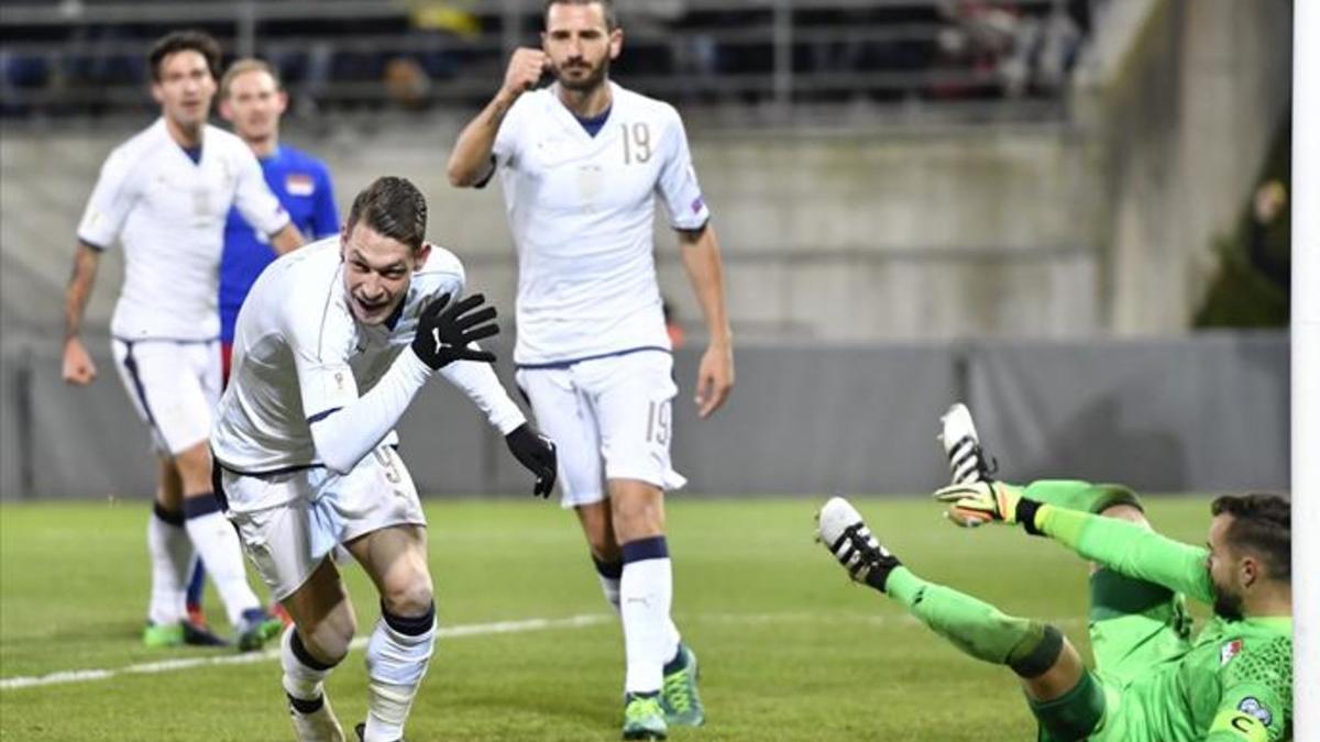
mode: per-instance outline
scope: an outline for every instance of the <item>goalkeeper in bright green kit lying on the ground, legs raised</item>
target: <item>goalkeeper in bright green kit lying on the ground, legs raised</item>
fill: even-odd
[[[927,582],[876,541],[842,498],[820,537],[853,580],[886,593],[964,652],[1008,665],[1040,722],[1067,742],[1274,742],[1291,738],[1291,516],[1275,495],[1210,506],[1208,549],[1150,529],[1137,495],[1113,485],[990,479],[966,408],[944,419],[953,486],[936,492],[964,527],[1020,524],[1092,560],[1096,668],[1052,626],[1005,615]],[[1106,518],[1107,516],[1107,518]],[[1183,595],[1214,606],[1196,639]]]

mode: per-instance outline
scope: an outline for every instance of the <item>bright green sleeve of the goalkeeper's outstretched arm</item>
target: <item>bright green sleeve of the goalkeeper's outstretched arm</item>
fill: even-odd
[[[1126,520],[1051,504],[1036,510],[1035,525],[1082,557],[1119,574],[1163,585],[1203,603],[1214,602],[1214,586],[1205,566],[1209,552],[1204,548]]]

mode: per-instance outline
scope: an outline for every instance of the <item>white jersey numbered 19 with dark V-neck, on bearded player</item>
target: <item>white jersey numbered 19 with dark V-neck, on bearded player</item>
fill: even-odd
[[[492,151],[519,252],[513,359],[528,367],[668,350],[655,199],[675,228],[710,219],[682,120],[668,103],[610,83],[609,118],[593,137],[557,90],[519,98]]]

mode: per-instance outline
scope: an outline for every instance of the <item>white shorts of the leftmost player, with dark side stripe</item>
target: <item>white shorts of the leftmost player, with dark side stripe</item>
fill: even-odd
[[[219,341],[114,338],[111,349],[157,453],[178,454],[210,437],[211,411],[220,401]]]

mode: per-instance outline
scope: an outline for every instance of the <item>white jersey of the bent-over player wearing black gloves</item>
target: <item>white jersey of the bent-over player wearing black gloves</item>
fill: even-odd
[[[458,298],[463,267],[432,246],[412,276],[401,312],[378,326],[348,308],[339,236],[272,263],[252,285],[234,333],[230,386],[216,409],[211,448],[224,467],[264,474],[318,465],[312,422],[367,393],[412,343],[421,310]],[[384,442],[396,442],[395,434]]]

